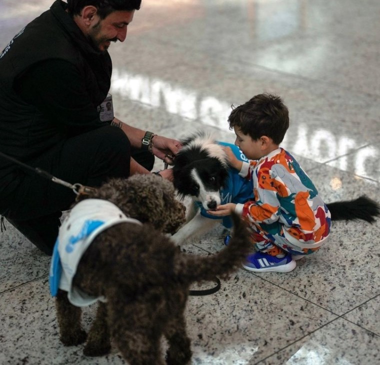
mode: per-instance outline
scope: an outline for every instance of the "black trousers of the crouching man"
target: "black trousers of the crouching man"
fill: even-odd
[[[97,187],[111,177],[128,177],[131,156],[148,170],[153,168],[150,152],[131,148],[120,128],[104,126],[69,138],[28,164],[71,184]],[[62,210],[69,209],[76,195],[36,174],[21,174],[21,183],[2,202],[1,212],[34,245],[51,255]]]

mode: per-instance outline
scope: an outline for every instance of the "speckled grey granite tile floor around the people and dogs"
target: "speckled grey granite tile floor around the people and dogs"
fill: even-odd
[[[50,4],[1,0],[0,48]],[[282,145],[324,199],[380,201],[379,14],[377,0],[142,0],[126,41],[110,47],[116,115],[169,137],[203,129],[233,142],[231,104],[276,93],[290,110]],[[5,224],[0,363],[124,363],[114,348],[87,358],[59,342],[49,257]],[[223,236],[216,227],[182,248],[212,254]],[[380,364],[379,236],[380,220],[337,222],[292,272],[239,269],[217,293],[190,297],[191,363]]]

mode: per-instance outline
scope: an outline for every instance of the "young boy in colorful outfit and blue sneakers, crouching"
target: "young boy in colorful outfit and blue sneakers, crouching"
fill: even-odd
[[[235,144],[249,158],[238,160],[228,147],[232,167],[250,179],[254,200],[217,206],[211,215],[231,210],[248,221],[256,252],[243,267],[254,272],[289,272],[295,259],[316,251],[330,231],[330,213],[310,178],[293,156],[279,147],[289,126],[280,97],[253,96],[228,117]]]

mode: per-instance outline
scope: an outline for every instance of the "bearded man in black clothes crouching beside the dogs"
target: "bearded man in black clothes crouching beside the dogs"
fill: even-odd
[[[70,183],[149,173],[180,143],[104,119],[110,42],[124,41],[141,0],[56,0],[0,53],[0,151]],[[109,95],[108,95],[109,97]],[[109,115],[109,113],[107,113]],[[170,170],[160,172],[171,178]],[[0,157],[0,213],[51,254],[75,195]]]

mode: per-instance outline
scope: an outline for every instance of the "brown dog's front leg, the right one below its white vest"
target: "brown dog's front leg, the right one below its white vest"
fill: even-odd
[[[107,308],[105,303],[99,302],[83,353],[86,356],[102,356],[109,353],[110,349]]]

